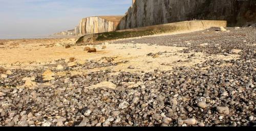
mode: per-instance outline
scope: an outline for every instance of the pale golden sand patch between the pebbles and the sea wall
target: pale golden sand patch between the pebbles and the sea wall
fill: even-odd
[[[47,67],[48,64],[58,64],[56,60],[69,59],[74,57],[76,61],[96,60],[102,57],[113,57],[113,62],[119,62],[118,65],[95,68],[90,70],[79,69],[73,72],[91,72],[111,69],[114,71],[129,72],[151,72],[155,69],[171,70],[173,67],[193,66],[202,63],[208,59],[236,59],[239,55],[206,55],[203,53],[180,53],[185,49],[181,47],[157,46],[126,43],[126,44],[104,44],[106,49],[102,49],[102,45],[90,45],[95,47],[96,53],[87,53],[83,51],[86,46],[75,46],[74,38],[58,38],[58,39],[27,39],[27,40],[5,40],[4,45],[0,45],[0,66],[6,69],[35,69],[38,67]],[[72,45],[66,49],[65,45]],[[149,53],[162,53],[157,58],[147,56]],[[195,54],[190,58],[191,54]],[[180,61],[179,61],[180,60]],[[126,61],[126,62],[122,62]],[[179,61],[179,62],[177,62]],[[128,69],[132,65],[134,69]],[[76,73],[75,73],[76,74]]]

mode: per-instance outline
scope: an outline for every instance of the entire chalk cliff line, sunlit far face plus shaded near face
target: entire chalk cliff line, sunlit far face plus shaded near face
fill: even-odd
[[[185,20],[227,20],[229,26],[256,23],[256,1],[236,0],[132,0],[124,16],[82,18],[75,35],[132,29]]]

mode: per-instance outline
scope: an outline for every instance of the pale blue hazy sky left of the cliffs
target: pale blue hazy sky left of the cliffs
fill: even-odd
[[[124,15],[132,0],[0,0],[0,38],[74,29],[83,17]]]

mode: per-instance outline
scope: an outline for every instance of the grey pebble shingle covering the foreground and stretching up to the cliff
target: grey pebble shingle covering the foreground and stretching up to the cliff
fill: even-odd
[[[50,75],[50,81],[42,76],[44,68],[11,70],[7,78],[0,77],[0,126],[255,126],[256,28],[227,30],[230,32],[205,30],[116,43],[187,47],[183,53],[238,53],[240,59],[207,60],[194,67],[149,73],[112,75],[116,72],[106,70]],[[63,71],[116,64],[108,59],[76,67],[63,64]],[[104,81],[116,88],[91,88]]]

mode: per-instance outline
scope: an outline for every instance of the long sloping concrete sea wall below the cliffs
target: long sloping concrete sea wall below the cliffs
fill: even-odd
[[[179,34],[193,31],[205,30],[211,27],[226,27],[227,21],[224,20],[192,20],[181,21],[178,23],[169,23],[156,26],[147,26],[134,29],[125,29],[112,32],[103,32],[91,35],[81,36],[76,43],[98,43],[104,40],[131,38],[148,36],[155,34]]]

